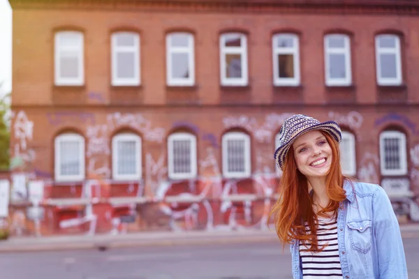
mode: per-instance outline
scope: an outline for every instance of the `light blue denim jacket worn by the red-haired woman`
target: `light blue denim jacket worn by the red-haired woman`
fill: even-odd
[[[337,241],[344,279],[408,278],[399,223],[380,186],[346,181],[337,211]],[[291,243],[293,278],[302,278],[299,241]]]

